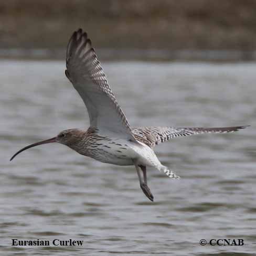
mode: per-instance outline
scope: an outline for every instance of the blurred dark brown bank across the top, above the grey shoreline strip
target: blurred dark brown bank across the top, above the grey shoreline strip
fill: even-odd
[[[77,28],[98,48],[255,50],[255,0],[8,0],[0,48],[65,48]]]

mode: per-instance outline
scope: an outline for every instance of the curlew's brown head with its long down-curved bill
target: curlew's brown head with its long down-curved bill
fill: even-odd
[[[10,158],[10,161],[18,155],[19,153],[23,152],[24,150],[27,150],[30,147],[35,147],[38,145],[46,144],[46,143],[52,143],[52,142],[58,142],[60,144],[69,146],[72,148],[73,145],[76,145],[81,138],[81,135],[84,134],[84,131],[81,131],[79,129],[68,129],[60,132],[57,136],[53,138],[49,138],[48,140],[45,141],[39,141],[34,144],[30,144],[26,147],[23,147],[21,150],[19,150],[17,153],[15,153],[12,158]]]

